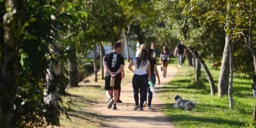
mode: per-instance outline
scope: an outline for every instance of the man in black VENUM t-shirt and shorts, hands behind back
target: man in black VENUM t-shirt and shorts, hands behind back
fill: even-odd
[[[108,109],[113,105],[113,109],[116,108],[116,102],[118,100],[118,90],[121,90],[121,72],[124,68],[124,57],[119,53],[122,47],[122,43],[116,42],[113,45],[113,51],[104,56],[103,65],[106,70],[105,87],[106,95],[108,97]],[[115,77],[114,84],[114,100],[111,97],[111,77]],[[114,103],[114,104],[113,104]]]

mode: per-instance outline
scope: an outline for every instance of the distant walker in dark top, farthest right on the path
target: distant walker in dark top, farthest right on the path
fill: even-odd
[[[182,41],[180,41],[180,43],[177,45],[175,52],[174,52],[174,56],[177,56],[177,54],[178,54],[178,65],[180,68],[182,67],[182,61],[183,61],[185,48],[186,48],[186,46],[184,44],[182,44]]]

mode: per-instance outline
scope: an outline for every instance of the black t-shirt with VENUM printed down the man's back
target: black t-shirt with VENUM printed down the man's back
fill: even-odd
[[[124,57],[118,52],[109,52],[104,56],[103,61],[107,62],[111,72],[116,72],[120,68],[120,65],[124,65]],[[110,76],[108,71],[106,71],[106,76]]]

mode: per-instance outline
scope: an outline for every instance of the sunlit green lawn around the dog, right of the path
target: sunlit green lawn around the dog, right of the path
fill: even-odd
[[[177,67],[177,61],[173,60],[172,66]],[[214,77],[216,88],[218,85],[219,70],[209,67]],[[166,102],[164,115],[168,116],[176,127],[255,127],[252,123],[254,99],[251,90],[252,80],[245,76],[234,75],[233,99],[235,109],[229,109],[228,97],[210,95],[210,88],[205,74],[202,81],[205,88],[191,85],[194,77],[193,67],[187,62],[175,79],[162,88],[161,99]],[[202,70],[202,72],[204,72]],[[197,100],[198,106],[193,111],[174,109],[174,97],[180,95],[183,99]]]

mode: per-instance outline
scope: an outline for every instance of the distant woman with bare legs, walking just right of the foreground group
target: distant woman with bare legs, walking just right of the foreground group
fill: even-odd
[[[170,58],[170,52],[168,50],[168,47],[164,46],[163,51],[161,52],[161,55],[160,55],[160,61],[162,65],[161,70],[163,69],[163,77],[166,77],[169,58]]]

